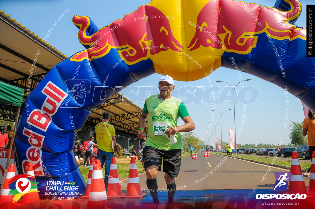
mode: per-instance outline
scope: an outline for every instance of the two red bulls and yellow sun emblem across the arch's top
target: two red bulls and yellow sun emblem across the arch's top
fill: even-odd
[[[197,80],[201,76],[189,72],[202,69],[204,75],[211,73],[221,66],[218,57],[224,52],[249,54],[256,48],[261,33],[277,40],[306,39],[306,29],[289,22],[301,14],[301,3],[284,1],[291,6],[287,12],[240,1],[203,1],[193,7],[196,11],[180,8],[182,14],[174,17],[179,8],[166,8],[165,4],[152,1],[92,35],[87,34],[89,17],[74,16],[73,23],[80,27],[79,40],[90,48],[71,60],[97,59],[115,49],[128,65],[151,59],[158,73],[177,76],[178,80]],[[189,0],[183,2],[190,4]],[[169,61],[170,57],[176,59]],[[170,70],[175,68],[183,70]]]

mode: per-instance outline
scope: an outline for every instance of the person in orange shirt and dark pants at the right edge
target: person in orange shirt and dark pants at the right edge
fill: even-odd
[[[308,117],[303,121],[303,136],[307,134],[307,145],[312,160],[312,153],[315,151],[315,116],[312,110],[308,110]],[[304,176],[311,175],[311,167],[303,173]]]

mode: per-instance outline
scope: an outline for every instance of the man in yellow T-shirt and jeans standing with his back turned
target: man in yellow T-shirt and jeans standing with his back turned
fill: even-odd
[[[114,126],[109,124],[110,113],[104,112],[101,115],[102,122],[95,126],[95,135],[97,141],[97,155],[96,159],[100,160],[100,165],[103,169],[105,163],[105,187],[107,189],[109,170],[111,167],[111,160],[114,157],[112,142],[116,143],[116,134]]]

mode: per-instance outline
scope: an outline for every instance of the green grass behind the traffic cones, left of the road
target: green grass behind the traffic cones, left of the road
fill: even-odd
[[[190,155],[189,153],[185,153],[185,154],[183,153],[181,157],[184,158],[189,155]],[[119,179],[121,180],[123,178],[128,177],[129,167],[130,167],[130,158],[117,159],[116,164],[117,164]],[[139,160],[136,160],[136,165],[137,165],[138,173],[141,173],[143,171],[142,162],[140,162]],[[79,169],[82,173],[84,180],[88,182],[89,168],[79,166]],[[104,174],[105,174],[105,167],[103,167],[103,177],[104,177]]]

